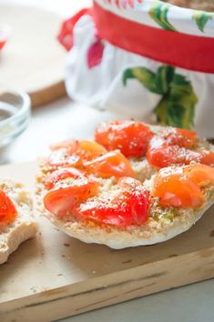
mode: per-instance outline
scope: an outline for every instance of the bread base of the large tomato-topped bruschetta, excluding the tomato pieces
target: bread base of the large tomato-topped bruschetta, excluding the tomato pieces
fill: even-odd
[[[159,135],[168,131],[169,127],[150,126],[150,129]],[[214,146],[211,146],[206,140],[199,139],[195,150],[204,149],[214,151]],[[158,168],[151,166],[145,156],[128,160],[137,179],[144,183],[149,191],[154,176],[158,173]],[[66,218],[58,218],[46,211],[43,205],[43,197],[46,195],[44,179],[51,171],[53,168],[48,166],[45,159],[41,163],[40,174],[37,176],[36,195],[40,213],[47,216],[55,226],[69,236],[76,237],[86,243],[105,244],[116,249],[157,244],[177,236],[193,226],[214,202],[214,186],[210,186],[204,191],[207,201],[200,208],[166,208],[159,206],[158,200],[154,199],[150,207],[148,221],[142,226],[117,227],[98,224],[89,219],[77,220],[76,214],[71,214]],[[97,198],[105,198],[115,193],[116,185],[113,179],[100,180],[102,180],[102,188]]]

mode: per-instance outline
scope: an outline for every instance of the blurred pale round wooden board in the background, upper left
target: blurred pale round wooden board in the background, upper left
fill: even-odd
[[[0,27],[11,28],[0,53],[0,81],[29,93],[33,106],[66,95],[66,51],[56,40],[62,20],[38,7],[0,4]]]

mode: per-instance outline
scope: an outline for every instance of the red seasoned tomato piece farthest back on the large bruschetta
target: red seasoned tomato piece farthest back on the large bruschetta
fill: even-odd
[[[108,151],[119,149],[127,157],[145,156],[152,136],[146,124],[131,120],[102,123],[95,133],[95,139],[100,145]]]

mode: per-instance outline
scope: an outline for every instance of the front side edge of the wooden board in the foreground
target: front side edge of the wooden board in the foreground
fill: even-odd
[[[211,277],[214,247],[2,303],[0,320],[56,320]]]

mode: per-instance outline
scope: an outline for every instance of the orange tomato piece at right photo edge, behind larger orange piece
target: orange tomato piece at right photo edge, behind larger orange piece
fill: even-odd
[[[214,185],[214,168],[206,165],[190,165],[184,168],[184,173],[187,174],[198,186]]]

